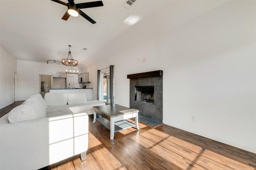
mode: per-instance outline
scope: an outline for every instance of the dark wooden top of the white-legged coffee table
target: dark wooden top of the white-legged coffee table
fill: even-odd
[[[109,117],[116,117],[116,116],[125,115],[125,114],[129,114],[129,113],[139,112],[139,110],[137,110],[137,109],[131,109],[129,107],[120,106],[118,104],[94,106],[93,108],[106,114]]]

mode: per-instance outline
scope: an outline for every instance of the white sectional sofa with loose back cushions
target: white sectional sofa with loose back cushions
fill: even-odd
[[[76,154],[86,158],[88,114],[85,93],[32,95],[0,118],[0,169],[37,170]]]

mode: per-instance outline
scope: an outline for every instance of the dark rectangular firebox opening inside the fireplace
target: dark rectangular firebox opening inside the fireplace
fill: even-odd
[[[154,86],[135,86],[135,101],[154,104]]]

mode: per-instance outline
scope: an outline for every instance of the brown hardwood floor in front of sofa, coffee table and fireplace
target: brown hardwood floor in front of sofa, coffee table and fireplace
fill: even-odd
[[[40,170],[256,170],[256,154],[168,125],[152,129],[139,123],[115,133],[89,115],[86,160],[73,156]]]

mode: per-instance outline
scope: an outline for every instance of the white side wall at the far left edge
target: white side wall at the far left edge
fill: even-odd
[[[0,109],[14,103],[14,72],[17,60],[1,47],[0,55]]]

